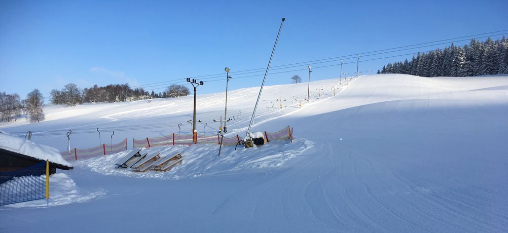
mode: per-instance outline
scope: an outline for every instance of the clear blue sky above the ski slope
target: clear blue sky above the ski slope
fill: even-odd
[[[340,61],[307,61],[357,53],[362,61],[363,52],[506,30],[507,10],[507,1],[0,1],[0,91],[24,98],[38,88],[47,101],[67,83],[162,92],[197,77],[205,82],[198,93],[212,93],[225,89],[225,66],[230,89],[259,86],[263,70],[234,72],[266,68],[282,17],[272,66],[303,63],[273,70],[290,72],[268,75],[266,84],[306,80],[309,64],[312,80],[329,79]],[[409,57],[362,61],[360,71]],[[355,61],[344,60],[343,72],[356,72]],[[214,74],[223,80],[199,77]],[[146,85],[158,82],[165,83]]]

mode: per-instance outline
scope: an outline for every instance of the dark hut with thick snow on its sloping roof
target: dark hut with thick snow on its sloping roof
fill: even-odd
[[[16,171],[46,160],[49,161],[50,174],[56,173],[56,169],[73,168],[57,149],[0,131],[0,172]]]

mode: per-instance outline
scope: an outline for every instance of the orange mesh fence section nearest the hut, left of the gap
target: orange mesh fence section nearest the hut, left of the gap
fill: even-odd
[[[93,158],[101,155],[114,154],[127,149],[127,139],[122,140],[117,144],[101,144],[96,147],[79,149],[71,149],[71,153],[68,150],[60,151],[62,157],[68,161]]]

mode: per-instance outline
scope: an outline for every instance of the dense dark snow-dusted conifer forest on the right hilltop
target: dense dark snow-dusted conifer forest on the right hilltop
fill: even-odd
[[[410,61],[388,63],[377,74],[408,74],[424,77],[466,77],[508,74],[508,41],[472,39],[463,47],[451,46],[418,53]]]

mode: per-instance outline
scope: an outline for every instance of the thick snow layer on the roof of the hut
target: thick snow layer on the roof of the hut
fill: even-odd
[[[0,133],[0,148],[72,167],[71,163],[63,159],[57,149],[37,144],[30,140],[14,137],[9,134]]]

